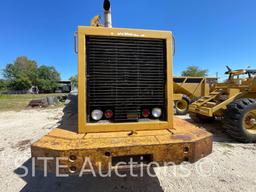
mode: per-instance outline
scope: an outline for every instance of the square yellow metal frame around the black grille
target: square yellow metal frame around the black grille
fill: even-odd
[[[167,61],[167,121],[132,123],[88,123],[86,122],[86,36],[138,37],[166,40]],[[173,75],[172,75],[172,33],[170,31],[135,30],[103,27],[78,27],[78,133],[111,131],[138,131],[173,128]]]

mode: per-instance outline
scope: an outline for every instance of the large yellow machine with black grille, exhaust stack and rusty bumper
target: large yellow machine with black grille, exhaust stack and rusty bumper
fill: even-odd
[[[173,116],[172,33],[111,28],[106,2],[104,27],[97,17],[76,33],[78,129],[64,125],[33,143],[36,166],[44,166],[38,157],[62,157],[62,171],[76,174],[85,158],[109,170],[129,159],[178,164],[210,154],[212,135]],[[56,171],[54,161],[47,167]]]

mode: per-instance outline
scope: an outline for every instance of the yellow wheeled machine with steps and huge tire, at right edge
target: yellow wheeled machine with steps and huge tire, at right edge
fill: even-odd
[[[227,69],[226,82],[217,83],[209,96],[189,106],[190,117],[201,123],[221,119],[233,138],[256,142],[256,70]]]

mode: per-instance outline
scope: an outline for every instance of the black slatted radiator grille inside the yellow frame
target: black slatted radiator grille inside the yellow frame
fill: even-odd
[[[166,120],[166,41],[86,37],[87,121],[111,109],[112,121],[138,121],[143,108],[160,107]]]

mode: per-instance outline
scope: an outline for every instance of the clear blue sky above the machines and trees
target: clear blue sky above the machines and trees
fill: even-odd
[[[223,78],[225,65],[256,64],[255,0],[112,0],[113,26],[173,31],[174,74],[189,65]],[[1,0],[0,69],[25,55],[54,65],[62,79],[77,73],[73,33],[103,15],[103,0]]]

